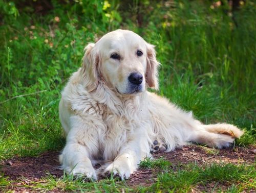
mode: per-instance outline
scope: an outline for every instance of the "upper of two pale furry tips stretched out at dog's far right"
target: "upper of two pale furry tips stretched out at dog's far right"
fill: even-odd
[[[230,135],[233,138],[239,138],[244,133],[244,131],[238,129],[236,126],[225,123],[204,125],[204,128],[208,132]]]

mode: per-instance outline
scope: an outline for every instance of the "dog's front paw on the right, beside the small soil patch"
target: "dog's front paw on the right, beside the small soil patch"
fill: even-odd
[[[121,161],[114,161],[105,168],[103,174],[104,176],[113,175],[114,177],[120,177],[121,180],[124,180],[128,179],[133,172],[134,170],[131,169],[126,163]]]

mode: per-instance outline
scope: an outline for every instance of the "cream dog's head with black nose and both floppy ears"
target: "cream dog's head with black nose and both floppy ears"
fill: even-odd
[[[104,83],[120,94],[136,94],[146,87],[158,89],[159,63],[154,45],[132,31],[116,30],[89,43],[83,57],[87,89]]]

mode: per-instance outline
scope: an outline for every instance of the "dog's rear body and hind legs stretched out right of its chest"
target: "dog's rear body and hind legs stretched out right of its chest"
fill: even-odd
[[[166,151],[172,151],[177,146],[183,146],[186,141],[205,143],[210,147],[225,148],[239,138],[243,131],[229,124],[203,125],[193,117],[191,112],[184,112],[166,99],[149,93],[152,106],[153,132],[167,144]],[[152,138],[154,145],[155,138]]]

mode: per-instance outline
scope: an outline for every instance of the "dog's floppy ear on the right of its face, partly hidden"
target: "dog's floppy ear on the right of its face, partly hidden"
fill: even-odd
[[[156,51],[154,45],[146,44],[147,56],[146,56],[146,83],[148,87],[158,90],[158,66],[160,63],[156,59]]]

